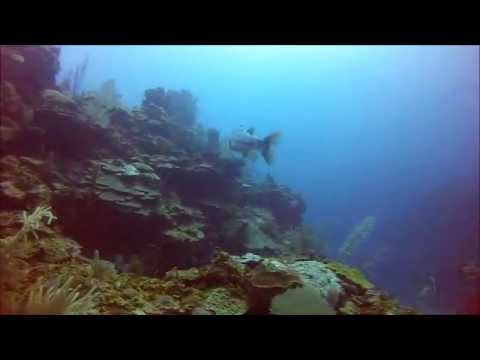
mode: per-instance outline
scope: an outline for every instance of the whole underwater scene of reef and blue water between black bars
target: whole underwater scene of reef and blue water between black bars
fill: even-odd
[[[1,46],[0,314],[480,314],[479,46]]]

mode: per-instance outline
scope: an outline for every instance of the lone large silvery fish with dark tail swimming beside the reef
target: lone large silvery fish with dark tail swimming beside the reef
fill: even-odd
[[[228,145],[232,151],[239,152],[243,157],[254,160],[260,152],[269,165],[273,161],[273,146],[278,143],[280,132],[276,131],[263,139],[255,135],[255,129],[241,129],[229,139]]]

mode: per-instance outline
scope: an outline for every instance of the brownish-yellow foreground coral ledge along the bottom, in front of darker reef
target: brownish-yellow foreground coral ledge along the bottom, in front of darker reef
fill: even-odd
[[[88,259],[78,251],[69,251],[72,240],[64,238],[58,230],[40,235],[40,240],[27,240],[36,244],[26,255],[28,264],[19,258],[7,265],[0,262],[2,275],[6,274],[5,267],[16,274],[25,266],[30,269],[14,283],[1,283],[7,290],[0,296],[2,313],[298,314],[302,308],[296,304],[303,303],[302,313],[326,314],[330,313],[328,309],[335,308],[324,295],[325,289],[333,286],[325,285],[324,278],[328,276],[322,262],[308,261],[306,266],[305,261],[283,262],[253,254],[232,257],[218,252],[204,266],[174,268],[163,277],[145,277],[132,272],[118,273],[113,264],[99,259],[98,254]],[[54,247],[49,245],[51,241]],[[45,248],[59,255],[44,256]],[[62,256],[66,252],[70,253],[67,258]],[[1,254],[5,252],[0,251]],[[354,310],[350,309],[354,313],[381,314],[384,310],[411,313],[380,292],[369,290],[360,295],[352,292],[347,282],[339,280],[338,284],[343,293],[339,310],[335,310],[339,314],[354,306]],[[289,293],[283,300],[277,298],[297,288],[303,290],[293,296]]]

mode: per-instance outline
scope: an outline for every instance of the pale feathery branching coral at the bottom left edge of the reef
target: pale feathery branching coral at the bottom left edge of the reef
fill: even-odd
[[[25,315],[84,315],[91,313],[95,307],[94,293],[96,288],[92,287],[85,295],[80,296],[78,291],[82,285],[73,290],[70,285],[73,276],[64,280],[64,276],[57,278],[53,285],[45,288],[41,281],[30,290],[28,299],[20,313]]]

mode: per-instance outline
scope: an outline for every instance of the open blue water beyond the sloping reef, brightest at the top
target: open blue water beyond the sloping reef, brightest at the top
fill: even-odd
[[[374,217],[347,261],[402,301],[450,312],[478,290],[459,273],[480,256],[478,46],[63,46],[59,79],[86,56],[82,90],[188,89],[222,137],[281,131],[258,176],[303,195],[331,257]]]

